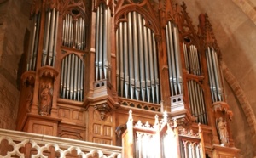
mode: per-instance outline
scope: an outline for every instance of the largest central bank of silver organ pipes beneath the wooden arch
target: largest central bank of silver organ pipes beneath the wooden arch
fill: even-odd
[[[127,17],[128,20],[120,22],[116,31],[119,94],[125,98],[159,103],[154,32],[145,26],[146,22],[141,14],[133,11]]]

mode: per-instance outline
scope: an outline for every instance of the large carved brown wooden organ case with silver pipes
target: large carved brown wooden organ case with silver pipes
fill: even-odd
[[[17,130],[125,151],[129,110],[149,128],[166,111],[165,126],[188,138],[177,138],[177,157],[236,156],[220,50],[207,14],[199,20],[195,31],[186,5],[172,0],[34,0]],[[124,156],[147,157],[138,155]]]

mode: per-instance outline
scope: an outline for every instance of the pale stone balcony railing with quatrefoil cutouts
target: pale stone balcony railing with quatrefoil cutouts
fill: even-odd
[[[0,157],[120,158],[121,153],[117,146],[0,129]]]

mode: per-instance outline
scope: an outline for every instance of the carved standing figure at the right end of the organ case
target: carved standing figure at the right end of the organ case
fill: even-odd
[[[227,144],[229,144],[229,133],[227,131],[227,122],[223,121],[222,117],[219,117],[216,123],[217,123],[217,129],[218,129],[221,145],[226,146]]]

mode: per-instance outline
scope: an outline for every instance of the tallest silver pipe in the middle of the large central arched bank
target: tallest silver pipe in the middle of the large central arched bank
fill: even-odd
[[[139,99],[140,81],[139,81],[139,67],[138,67],[138,52],[137,52],[137,13],[132,12],[133,17],[133,54],[134,54],[134,77],[135,77],[135,94],[136,99]]]

